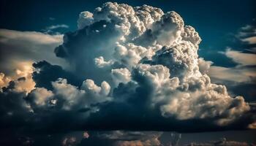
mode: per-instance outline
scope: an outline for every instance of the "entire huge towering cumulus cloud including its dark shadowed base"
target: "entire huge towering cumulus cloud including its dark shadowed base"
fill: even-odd
[[[61,37],[32,34],[48,38],[47,43],[39,40],[41,44],[56,45]],[[12,39],[4,37],[3,43]],[[64,34],[63,43],[55,48],[56,56],[69,63],[69,72],[51,65],[56,61],[51,57],[45,59],[51,64],[32,64],[36,85],[20,100],[33,112],[29,122],[56,129],[202,131],[239,124],[246,128],[252,121],[247,116],[252,112],[249,104],[242,96],[231,97],[225,85],[211,83],[206,73],[212,63],[197,54],[200,41],[195,28],[186,26],[176,12],[108,2],[94,12],[81,12],[78,30]],[[60,121],[68,121],[67,126]],[[198,124],[191,127],[192,123]],[[45,126],[37,129],[48,129]],[[69,141],[72,138],[64,139]],[[151,137],[117,145],[160,144]]]

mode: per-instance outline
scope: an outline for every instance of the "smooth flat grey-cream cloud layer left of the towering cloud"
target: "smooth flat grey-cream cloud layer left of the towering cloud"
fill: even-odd
[[[12,76],[15,69],[22,70],[23,66],[42,60],[64,66],[64,61],[53,54],[54,48],[62,43],[62,37],[61,34],[0,29],[0,71]]]

